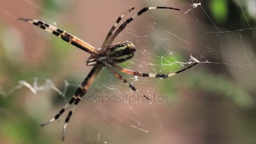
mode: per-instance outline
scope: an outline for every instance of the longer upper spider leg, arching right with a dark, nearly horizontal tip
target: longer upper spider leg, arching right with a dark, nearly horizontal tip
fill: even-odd
[[[120,25],[120,27],[118,27],[118,29],[115,31],[115,33],[110,38],[107,45],[111,45],[113,43],[113,41],[115,40],[115,38],[117,37],[117,35],[120,32],[122,32],[122,30],[125,29],[126,25],[129,24],[133,19],[140,16],[142,13],[146,12],[147,10],[152,10],[152,9],[157,9],[157,8],[173,9],[173,10],[180,11],[178,8],[170,8],[170,7],[145,7],[145,8],[142,8],[138,13],[135,13],[131,18],[127,19],[123,24]]]

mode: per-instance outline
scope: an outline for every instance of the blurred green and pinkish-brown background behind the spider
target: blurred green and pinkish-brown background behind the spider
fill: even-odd
[[[88,75],[89,54],[17,18],[46,21],[100,48],[118,16],[147,6],[181,11],[151,10],[128,24],[114,42],[132,41],[137,51],[119,65],[168,74],[200,64],[167,79],[120,73],[142,93],[168,101],[86,101],[93,92],[136,95],[103,69],[64,142],[67,113],[40,127]],[[255,20],[256,0],[1,0],[0,144],[255,144]]]

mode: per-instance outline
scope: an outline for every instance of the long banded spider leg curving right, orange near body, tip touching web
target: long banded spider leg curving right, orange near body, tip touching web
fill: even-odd
[[[167,78],[167,77],[171,77],[173,75],[176,75],[176,74],[179,74],[193,66],[195,66],[196,64],[198,64],[198,62],[190,65],[189,67],[186,67],[184,69],[181,69],[177,72],[173,72],[173,73],[170,73],[170,74],[149,74],[149,73],[144,73],[144,72],[138,72],[138,71],[134,71],[134,70],[131,70],[131,69],[125,69],[125,68],[122,68],[122,67],[119,67],[117,64],[114,64],[114,65],[111,65],[112,67],[120,70],[121,72],[125,72],[127,74],[130,74],[130,75],[137,75],[137,76],[140,76],[140,77],[157,77],[157,78]]]

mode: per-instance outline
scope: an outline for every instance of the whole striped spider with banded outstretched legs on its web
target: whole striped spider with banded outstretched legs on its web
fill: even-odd
[[[31,24],[34,24],[37,27],[40,27],[41,29],[44,29],[47,32],[52,33],[53,35],[56,35],[57,37],[60,37],[62,40],[66,41],[67,43],[70,43],[71,45],[76,46],[77,48],[80,48],[81,50],[91,54],[86,64],[88,66],[93,66],[91,71],[89,72],[88,76],[83,80],[83,83],[80,85],[79,88],[75,91],[75,94],[70,99],[70,101],[64,105],[64,107],[59,111],[57,115],[55,115],[51,120],[49,120],[47,123],[41,124],[41,126],[48,125],[49,123],[53,122],[54,120],[57,120],[67,108],[72,106],[72,109],[69,111],[65,123],[62,130],[62,141],[64,141],[64,132],[67,128],[67,124],[69,122],[70,117],[72,116],[72,113],[74,112],[75,108],[77,107],[77,104],[81,101],[82,97],[85,95],[86,91],[88,91],[88,88],[91,86],[93,81],[95,80],[96,76],[99,74],[100,70],[103,67],[106,67],[112,74],[114,74],[117,78],[123,81],[126,85],[128,85],[133,91],[138,93],[139,95],[143,96],[145,99],[149,100],[149,97],[142,94],[137,88],[135,88],[131,83],[129,83],[125,78],[120,75],[118,72],[116,72],[113,68],[125,72],[130,75],[137,75],[140,77],[158,77],[158,78],[167,78],[171,77],[173,75],[176,75],[180,72],[183,72],[197,64],[195,62],[194,64],[190,65],[189,67],[186,67],[184,69],[179,70],[178,72],[170,73],[170,74],[150,74],[150,73],[143,73],[134,71],[131,69],[125,69],[122,67],[119,67],[117,64],[122,63],[124,61],[127,61],[128,59],[131,59],[136,51],[135,46],[128,41],[121,42],[121,43],[115,43],[112,44],[112,42],[115,40],[117,35],[122,32],[123,29],[125,29],[126,25],[129,24],[133,19],[140,16],[142,13],[146,12],[147,10],[152,9],[172,9],[180,11],[178,8],[171,8],[171,7],[145,7],[142,8],[138,13],[134,14],[132,17],[127,19],[123,24],[118,27],[118,29],[113,34],[115,28],[117,27],[117,24],[121,21],[121,19],[127,15],[129,12],[131,12],[134,8],[129,9],[125,13],[123,13],[121,16],[119,16],[115,22],[115,24],[112,26],[112,28],[109,30],[106,39],[104,40],[103,45],[100,49],[94,48],[92,45],[89,45],[88,43],[84,42],[83,40],[80,40],[75,35],[72,35],[62,29],[59,29],[51,24],[47,24],[43,21],[36,20],[36,19],[24,19],[19,18],[19,20],[27,21]]]

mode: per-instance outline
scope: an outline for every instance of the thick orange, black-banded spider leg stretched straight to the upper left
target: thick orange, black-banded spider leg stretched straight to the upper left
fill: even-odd
[[[44,29],[47,32],[52,33],[53,35],[56,35],[57,37],[60,37],[62,40],[66,41],[67,43],[70,43],[77,48],[82,49],[83,51],[86,51],[92,55],[99,54],[99,51],[94,48],[92,45],[89,45],[85,41],[79,39],[75,35],[72,35],[62,29],[59,29],[51,24],[47,24],[43,21],[37,20],[37,19],[24,19],[19,18],[18,20],[26,21],[30,24],[34,24],[37,27],[40,27],[41,29]]]

